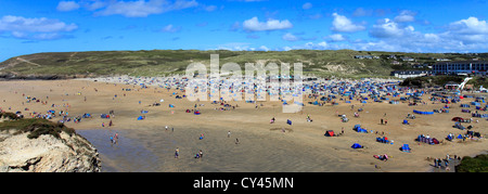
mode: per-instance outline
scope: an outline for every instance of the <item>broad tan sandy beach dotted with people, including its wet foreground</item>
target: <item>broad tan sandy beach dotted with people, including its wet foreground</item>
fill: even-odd
[[[132,91],[123,90],[127,88]],[[264,106],[258,108],[254,103],[229,102],[239,107],[216,111],[216,107],[222,106],[175,99],[172,92],[176,90],[156,87],[140,89],[138,86],[92,80],[0,81],[0,107],[7,112],[9,107],[10,112],[21,111],[26,117],[33,111],[42,114],[49,109],[56,111],[56,114],[66,111],[73,117],[90,113],[93,118],[84,118],[79,124],[69,121],[66,126],[75,128],[99,148],[104,171],[432,171],[433,160],[429,158],[445,158],[446,154],[451,157],[474,156],[488,151],[484,139],[465,142],[445,140],[450,132],[454,137],[465,133],[452,128],[452,117],[471,118],[471,114],[461,113],[460,103],[451,104],[450,113],[415,115],[416,119],[410,120],[411,125],[402,125],[412,109],[431,112],[444,106],[432,104],[428,95],[423,96],[428,105],[418,106],[408,106],[408,102],[388,104],[370,100],[361,104],[351,101],[354,111],[351,104],[344,102],[335,106],[314,106],[307,103],[314,100],[304,96],[306,106],[303,112],[286,114],[282,113],[281,102],[262,102]],[[48,103],[26,103],[27,95]],[[150,106],[162,99],[160,106]],[[464,99],[462,103],[471,101],[473,99]],[[51,107],[51,104],[59,106]],[[169,104],[175,107],[168,107]],[[195,104],[204,104],[197,107],[201,115],[184,112],[194,109]],[[354,113],[359,107],[363,112],[356,118]],[[141,114],[142,109],[149,113]],[[472,106],[470,109],[475,108]],[[108,114],[110,111],[115,112],[115,117],[111,118],[112,127],[108,127],[110,119],[100,118],[100,114]],[[342,122],[336,113],[346,114],[349,121]],[[137,120],[142,115],[146,118]],[[306,120],[307,115],[313,119],[312,122]],[[277,119],[275,124],[270,124],[272,117]],[[381,118],[388,124],[381,125]],[[53,120],[60,119],[55,117]],[[291,119],[293,125],[286,125],[286,119]],[[472,125],[474,131],[485,135],[488,121],[477,119],[479,122],[463,126]],[[354,131],[352,127],[358,124],[369,131],[373,130],[373,133]],[[324,137],[326,130],[339,133],[342,128],[344,135]],[[231,131],[230,138],[228,131]],[[381,137],[376,131],[380,134],[384,132],[394,144],[376,142],[376,138]],[[119,142],[111,145],[110,135],[115,132],[119,134]],[[201,134],[205,137],[203,140],[198,140]],[[419,144],[414,141],[419,134],[429,134],[444,140],[444,143]],[[239,144],[235,144],[235,139],[239,139]],[[350,146],[354,143],[360,143],[364,148],[352,150]],[[402,144],[409,144],[412,152],[400,152]],[[178,159],[175,158],[177,147],[180,150]],[[200,150],[204,156],[196,159],[193,156]],[[387,154],[389,159],[382,161],[373,157],[380,154]]]

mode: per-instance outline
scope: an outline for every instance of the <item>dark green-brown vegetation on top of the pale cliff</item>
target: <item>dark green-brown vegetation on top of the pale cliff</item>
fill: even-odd
[[[12,115],[12,113],[3,113],[0,115],[1,118],[5,118]],[[15,115],[15,114],[14,114]],[[15,116],[14,119],[4,120],[0,122],[0,131],[4,130],[15,130],[13,134],[27,133],[27,138],[37,139],[42,134],[51,134],[57,139],[60,139],[60,133],[62,131],[72,135],[75,133],[75,130],[64,126],[64,124],[56,124],[42,118],[17,118]]]

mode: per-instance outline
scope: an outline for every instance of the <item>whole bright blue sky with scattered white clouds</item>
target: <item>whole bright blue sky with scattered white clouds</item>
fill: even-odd
[[[0,61],[38,52],[487,52],[488,1],[1,0]]]

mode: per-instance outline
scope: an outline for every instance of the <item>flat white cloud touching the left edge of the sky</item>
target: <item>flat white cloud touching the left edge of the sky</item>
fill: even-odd
[[[61,33],[77,29],[76,24],[66,24],[57,20],[46,17],[26,18],[23,16],[5,15],[0,18],[0,31],[8,31],[15,38],[24,39],[59,39]]]

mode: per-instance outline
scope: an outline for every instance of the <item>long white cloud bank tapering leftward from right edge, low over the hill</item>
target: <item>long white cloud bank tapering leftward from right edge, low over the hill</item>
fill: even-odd
[[[391,52],[477,52],[488,50],[488,23],[476,17],[449,23],[444,31],[422,33],[403,22],[384,18],[370,29],[370,40],[345,42],[341,34],[324,37],[328,42],[307,42],[283,50],[338,50]],[[342,41],[342,42],[341,42]]]

